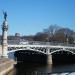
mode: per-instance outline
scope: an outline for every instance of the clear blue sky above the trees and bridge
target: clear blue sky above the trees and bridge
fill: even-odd
[[[0,0],[0,34],[7,11],[8,35],[35,35],[57,24],[75,31],[75,0]]]

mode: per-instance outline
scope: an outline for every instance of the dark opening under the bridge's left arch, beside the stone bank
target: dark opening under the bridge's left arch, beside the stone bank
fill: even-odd
[[[35,50],[15,50],[14,56],[16,61],[26,62],[26,63],[43,63],[46,60],[46,54],[42,51]]]

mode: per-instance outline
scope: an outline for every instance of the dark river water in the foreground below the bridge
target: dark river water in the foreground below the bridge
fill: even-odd
[[[75,75],[75,64],[65,65],[38,65],[19,63],[8,75]]]

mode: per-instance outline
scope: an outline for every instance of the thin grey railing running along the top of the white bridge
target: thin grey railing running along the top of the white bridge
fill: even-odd
[[[9,45],[14,45],[14,44],[9,44]],[[40,42],[40,41],[28,41],[26,44],[22,43],[17,43],[16,45],[60,45],[60,46],[70,46],[70,47],[75,47],[75,44],[67,44],[67,43],[58,43],[58,42]]]

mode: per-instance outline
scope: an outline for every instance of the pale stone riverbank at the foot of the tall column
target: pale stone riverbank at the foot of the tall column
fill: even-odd
[[[8,58],[0,58],[0,75],[5,75],[14,68],[15,61]]]

